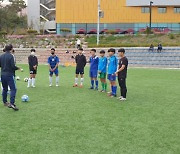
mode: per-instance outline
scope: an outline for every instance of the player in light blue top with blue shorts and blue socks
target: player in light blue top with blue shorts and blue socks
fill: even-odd
[[[117,71],[117,65],[118,60],[115,56],[116,50],[111,48],[108,50],[109,53],[109,63],[108,63],[108,80],[111,84],[111,93],[109,96],[116,97],[117,92],[117,85],[116,85],[116,71]]]

